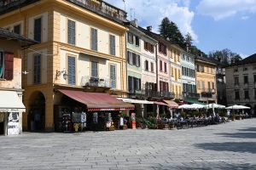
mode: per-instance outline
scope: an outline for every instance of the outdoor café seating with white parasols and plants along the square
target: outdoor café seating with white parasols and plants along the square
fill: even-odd
[[[252,118],[247,114],[247,106],[233,105],[225,107],[224,105],[180,105],[179,114],[166,117],[150,116],[148,119],[137,118],[137,127],[150,129],[185,129],[193,127],[203,127],[209,125],[218,125],[235,120]],[[231,112],[230,112],[231,111]]]

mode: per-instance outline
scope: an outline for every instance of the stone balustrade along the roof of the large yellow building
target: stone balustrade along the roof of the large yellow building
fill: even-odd
[[[101,14],[108,19],[117,22],[126,21],[126,13],[124,10],[114,7],[102,0],[67,0],[68,2],[79,5],[82,8],[90,10],[96,14]]]

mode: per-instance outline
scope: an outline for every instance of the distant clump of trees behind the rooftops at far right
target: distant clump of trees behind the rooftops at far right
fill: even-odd
[[[241,56],[225,48],[222,50],[215,50],[209,53],[209,58],[216,59],[223,64],[236,63],[241,60]]]

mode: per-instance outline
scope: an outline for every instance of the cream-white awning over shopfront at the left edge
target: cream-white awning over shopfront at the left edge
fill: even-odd
[[[0,111],[25,111],[25,106],[22,104],[16,92],[0,91]]]

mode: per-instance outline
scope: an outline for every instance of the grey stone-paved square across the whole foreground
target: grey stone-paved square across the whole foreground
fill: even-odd
[[[181,130],[0,136],[0,169],[256,169],[256,119]]]

